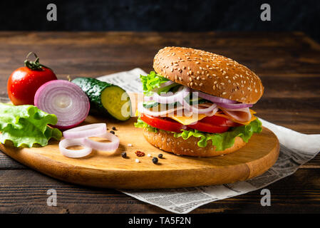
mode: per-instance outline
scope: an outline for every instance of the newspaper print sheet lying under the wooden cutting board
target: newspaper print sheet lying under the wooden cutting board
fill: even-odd
[[[114,73],[98,79],[123,87],[128,92],[142,93],[139,75],[146,73],[140,68],[132,71]],[[262,187],[287,177],[320,151],[320,135],[306,135],[294,130],[274,125],[262,120],[264,127],[272,130],[280,142],[280,154],[277,162],[259,177],[244,182],[229,185],[213,185],[203,187],[184,187],[164,190],[119,190],[135,199],[153,204],[167,211],[185,214],[203,204],[219,199],[235,197],[247,192],[258,190]]]

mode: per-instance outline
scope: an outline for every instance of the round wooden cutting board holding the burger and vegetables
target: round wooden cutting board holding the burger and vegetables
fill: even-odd
[[[114,126],[120,138],[115,152],[93,150],[83,158],[61,155],[58,141],[46,147],[17,149],[0,144],[0,150],[15,160],[59,180],[79,185],[118,189],[151,189],[221,185],[261,175],[272,167],[279,155],[279,141],[270,130],[254,134],[247,145],[229,155],[217,157],[185,157],[159,150],[143,138],[142,129],[135,128],[136,118],[120,123],[89,116],[86,123],[107,123]],[[98,139],[97,139],[98,140]],[[132,144],[132,146],[128,146]],[[135,151],[145,152],[137,157]],[[121,157],[122,152],[128,157]],[[162,153],[157,165],[152,157]],[[139,163],[135,159],[140,160]]]

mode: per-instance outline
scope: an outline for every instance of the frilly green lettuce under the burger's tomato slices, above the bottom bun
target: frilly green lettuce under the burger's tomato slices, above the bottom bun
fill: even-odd
[[[157,132],[157,128],[153,128],[147,123],[143,122],[138,118],[138,123],[135,123],[136,128],[147,128],[149,131]],[[211,140],[212,145],[216,146],[216,150],[225,150],[234,145],[234,138],[240,137],[244,142],[248,142],[253,133],[261,133],[262,123],[260,120],[256,119],[249,123],[248,125],[242,125],[235,128],[230,128],[225,133],[204,133],[199,130],[182,130],[182,133],[175,133],[175,138],[182,137],[187,140],[190,137],[199,138],[197,145],[199,147],[206,147],[207,141]]]

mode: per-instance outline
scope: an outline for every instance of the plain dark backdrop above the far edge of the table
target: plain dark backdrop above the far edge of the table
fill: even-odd
[[[47,21],[47,4],[58,21]],[[272,21],[261,21],[270,4]],[[2,31],[304,31],[320,41],[319,0],[16,1],[0,3]]]

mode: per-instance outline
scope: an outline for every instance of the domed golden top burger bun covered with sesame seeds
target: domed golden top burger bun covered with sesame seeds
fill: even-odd
[[[260,78],[231,58],[193,48],[165,47],[153,60],[155,72],[181,85],[240,103],[257,103]]]

